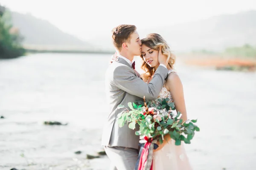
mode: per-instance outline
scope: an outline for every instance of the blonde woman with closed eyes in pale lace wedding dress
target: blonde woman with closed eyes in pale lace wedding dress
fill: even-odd
[[[154,76],[154,72],[160,65],[158,62],[158,55],[165,55],[169,57],[169,63],[167,68],[169,70],[168,77],[165,84],[158,96],[158,98],[169,98],[169,102],[175,102],[176,111],[182,113],[181,119],[187,120],[186,106],[183,95],[183,86],[179,76],[174,71],[173,65],[175,63],[175,56],[171,53],[171,50],[166,41],[159,34],[148,34],[142,41],[142,54],[141,58],[144,60],[142,69],[145,74],[141,77],[147,83],[149,83]],[[158,102],[157,99],[153,102]],[[163,144],[157,143],[159,147],[154,150],[153,153],[153,170],[192,170],[186,151],[184,149],[184,143],[176,146],[175,141],[165,136],[168,140],[164,140]]]

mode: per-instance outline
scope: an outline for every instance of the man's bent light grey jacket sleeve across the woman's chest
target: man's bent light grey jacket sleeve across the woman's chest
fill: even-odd
[[[113,82],[116,87],[129,94],[148,100],[157,99],[163,88],[164,79],[167,77],[168,69],[159,66],[153,79],[147,84],[142,79],[134,75],[132,68],[125,65],[117,67],[113,72]]]

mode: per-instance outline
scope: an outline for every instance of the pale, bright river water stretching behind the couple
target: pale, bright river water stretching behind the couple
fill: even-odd
[[[107,54],[30,54],[0,60],[0,170],[108,170],[100,146]],[[139,64],[137,64],[139,67]],[[177,60],[189,119],[201,131],[186,150],[194,170],[256,169],[256,73]],[[44,121],[67,122],[47,126]],[[74,152],[81,150],[80,155]]]

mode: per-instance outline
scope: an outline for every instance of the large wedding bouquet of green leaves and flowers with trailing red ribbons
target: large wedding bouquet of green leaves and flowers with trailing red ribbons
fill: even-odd
[[[190,144],[195,135],[195,131],[199,131],[199,127],[195,125],[196,119],[183,122],[180,119],[181,113],[174,113],[175,105],[169,102],[169,98],[158,99],[158,102],[149,101],[148,103],[138,101],[138,104],[128,103],[130,111],[126,108],[118,115],[119,127],[129,124],[128,127],[135,129],[138,124],[140,129],[135,132],[140,138],[140,155],[137,160],[136,170],[150,170],[152,168],[153,150],[158,147],[156,144],[163,143],[166,136],[169,135],[175,140],[175,145],[180,145],[181,141]],[[119,105],[119,108],[124,108]]]

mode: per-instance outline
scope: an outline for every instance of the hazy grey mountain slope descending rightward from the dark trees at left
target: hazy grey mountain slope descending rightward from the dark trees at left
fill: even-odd
[[[79,40],[73,35],[66,34],[47,20],[38,19],[31,14],[11,12],[13,26],[19,28],[26,45],[49,46],[80,46],[90,48],[87,42]]]

